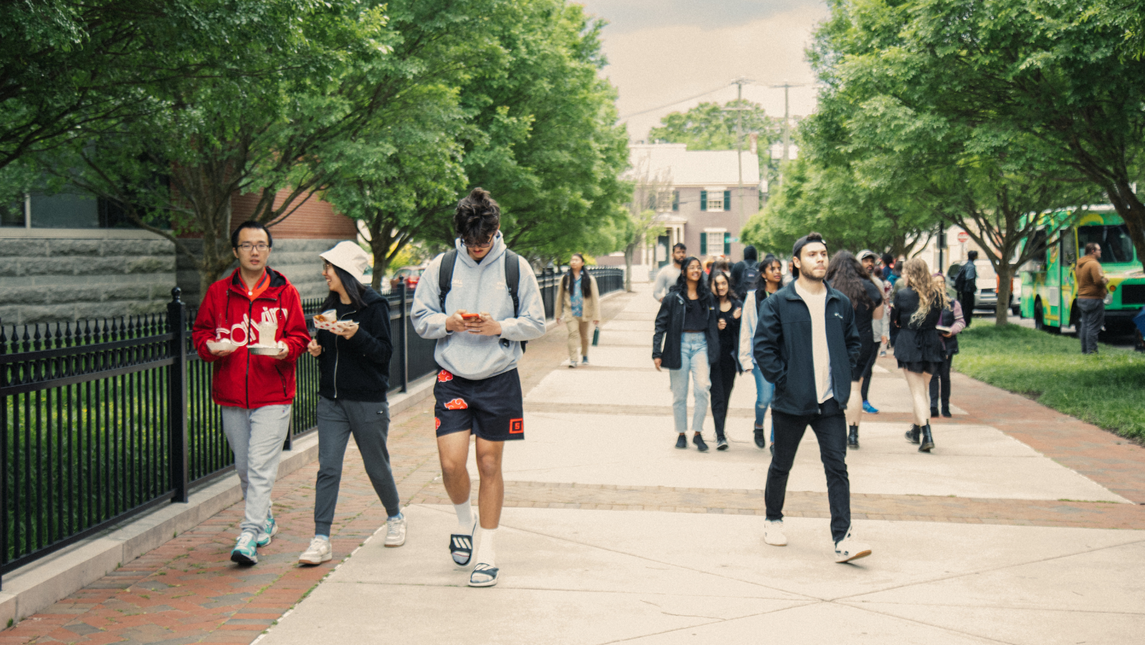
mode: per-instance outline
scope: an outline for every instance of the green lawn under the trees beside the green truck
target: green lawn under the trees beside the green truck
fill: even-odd
[[[1075,337],[977,322],[958,335],[958,346],[956,371],[1145,440],[1145,354],[1101,345],[1083,356]]]

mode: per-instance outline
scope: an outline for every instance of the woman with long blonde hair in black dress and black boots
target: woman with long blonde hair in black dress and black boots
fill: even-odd
[[[921,258],[907,260],[902,278],[908,281],[907,286],[891,300],[891,323],[899,330],[894,357],[910,388],[915,415],[915,423],[907,431],[907,441],[917,443],[919,453],[930,453],[934,448],[934,438],[930,426],[929,384],[931,376],[942,368],[942,338],[938,323],[949,300],[946,290],[931,280],[930,268]]]

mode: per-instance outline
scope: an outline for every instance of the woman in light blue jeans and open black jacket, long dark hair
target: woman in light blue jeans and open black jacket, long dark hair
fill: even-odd
[[[676,286],[669,290],[656,314],[656,331],[652,338],[652,361],[656,371],[668,368],[672,383],[672,418],[676,423],[676,447],[688,447],[688,376],[695,393],[692,442],[701,453],[708,443],[701,434],[708,414],[711,388],[711,365],[719,360],[719,329],[716,298],[704,280],[698,258],[685,258]]]

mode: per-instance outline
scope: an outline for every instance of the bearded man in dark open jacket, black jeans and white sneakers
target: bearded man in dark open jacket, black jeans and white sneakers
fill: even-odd
[[[791,250],[796,280],[764,300],[753,352],[764,378],[775,384],[772,428],[775,456],[767,470],[764,542],[787,544],[783,501],[787,480],[804,432],[811,425],[827,473],[835,561],[870,554],[870,546],[851,535],[851,482],[847,479],[847,427],[844,410],[851,396],[861,340],[851,300],[831,289],[823,236],[808,233]],[[851,404],[861,404],[852,401]]]

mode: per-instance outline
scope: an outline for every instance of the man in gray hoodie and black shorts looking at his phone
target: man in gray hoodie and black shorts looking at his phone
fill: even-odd
[[[505,501],[502,454],[505,441],[524,439],[516,362],[522,341],[544,336],[545,307],[529,262],[505,246],[500,209],[487,190],[474,188],[458,203],[453,230],[455,249],[434,258],[421,274],[410,315],[418,336],[437,340],[434,359],[442,368],[434,385],[437,454],[458,522],[450,535],[450,554],[460,566],[473,559],[477,522],[465,464],[469,435],[475,434],[481,544],[469,587],[492,587],[498,575],[493,537]],[[512,273],[518,274],[515,285],[506,280]]]

